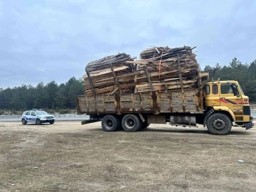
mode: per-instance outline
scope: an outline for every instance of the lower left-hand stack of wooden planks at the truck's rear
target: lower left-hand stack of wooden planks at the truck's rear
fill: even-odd
[[[127,61],[133,61],[130,55],[119,53],[88,63],[85,68],[87,75],[83,76],[85,94],[87,96],[114,94],[120,90],[134,92],[136,65]]]

